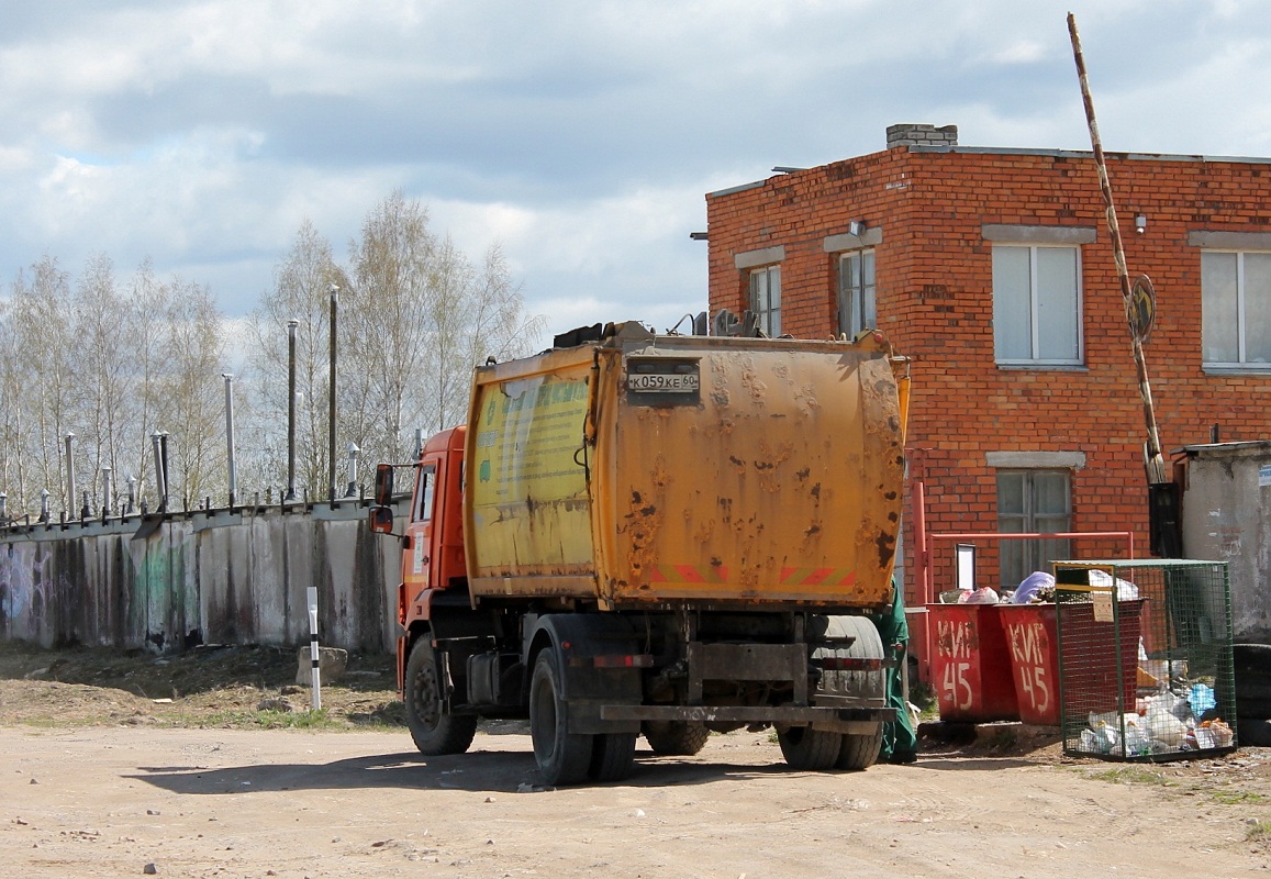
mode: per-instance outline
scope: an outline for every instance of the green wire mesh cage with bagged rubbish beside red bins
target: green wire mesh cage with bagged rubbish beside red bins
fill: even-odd
[[[1055,562],[1064,753],[1124,761],[1235,749],[1227,562]]]

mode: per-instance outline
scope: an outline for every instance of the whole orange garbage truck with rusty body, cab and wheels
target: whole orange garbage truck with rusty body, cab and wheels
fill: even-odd
[[[906,370],[872,331],[636,322],[478,366],[466,425],[376,468],[418,749],[529,719],[544,782],[571,785],[627,777],[639,737],[694,754],[774,728],[792,768],[869,767],[895,719],[867,614],[892,602]]]

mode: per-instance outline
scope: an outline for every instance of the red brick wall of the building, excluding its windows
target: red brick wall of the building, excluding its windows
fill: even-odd
[[[1116,155],[1108,163],[1131,277],[1150,275],[1158,291],[1145,352],[1167,458],[1207,441],[1214,422],[1224,441],[1271,438],[1271,377],[1201,369],[1201,251],[1187,244],[1195,230],[1271,230],[1271,164]],[[822,239],[846,232],[852,219],[882,228],[878,328],[914,361],[909,466],[911,478],[924,481],[930,530],[996,529],[988,452],[1082,452],[1074,529],[1134,530],[1138,555],[1146,555],[1146,429],[1092,158],[897,148],[708,196],[707,211],[712,310],[747,305],[736,253],[780,244],[783,329],[810,338],[835,328],[835,265]],[[1148,218],[1143,234],[1135,214]],[[991,244],[982,224],[1096,229],[1096,242],[1082,246],[1084,369],[994,363]],[[910,518],[910,572],[911,527]],[[1078,547],[1082,557],[1124,553],[1112,541]],[[952,557],[937,546],[942,552]],[[995,575],[991,550],[980,564]],[[911,597],[913,586],[910,576]]]

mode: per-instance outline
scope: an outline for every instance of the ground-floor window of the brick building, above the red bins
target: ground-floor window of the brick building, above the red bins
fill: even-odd
[[[998,530],[1008,534],[1057,534],[1071,529],[1070,471],[998,471]],[[1000,541],[1002,588],[1014,589],[1033,571],[1050,571],[1052,561],[1069,556],[1066,539]]]

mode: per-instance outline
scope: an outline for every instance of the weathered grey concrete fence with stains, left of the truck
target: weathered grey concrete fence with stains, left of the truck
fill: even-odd
[[[292,505],[0,530],[0,640],[174,651],[309,641],[389,651],[400,544],[365,504]]]

